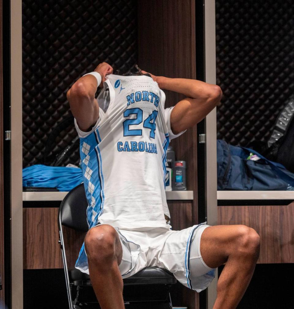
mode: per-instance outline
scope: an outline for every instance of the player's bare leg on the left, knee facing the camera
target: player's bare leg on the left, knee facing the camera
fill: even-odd
[[[108,224],[91,228],[85,237],[90,279],[102,309],[123,309],[123,250],[117,231]]]

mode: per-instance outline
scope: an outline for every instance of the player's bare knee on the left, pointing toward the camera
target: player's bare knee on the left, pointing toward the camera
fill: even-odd
[[[88,259],[95,260],[97,264],[113,260],[115,239],[116,231],[108,224],[91,228],[84,241]]]

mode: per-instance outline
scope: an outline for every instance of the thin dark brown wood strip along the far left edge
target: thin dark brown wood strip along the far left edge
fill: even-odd
[[[0,0],[0,307],[4,308],[4,191],[3,191],[3,54],[2,54],[2,0]]]

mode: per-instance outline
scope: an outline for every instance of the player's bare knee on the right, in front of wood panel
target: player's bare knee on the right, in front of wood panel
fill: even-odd
[[[257,232],[245,225],[238,225],[236,229],[236,253],[258,258],[260,237]]]

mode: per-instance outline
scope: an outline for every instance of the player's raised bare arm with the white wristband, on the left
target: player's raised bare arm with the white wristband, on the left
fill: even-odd
[[[79,78],[67,91],[67,99],[71,112],[76,118],[79,128],[87,132],[99,118],[99,106],[95,99],[97,86],[103,87],[106,74],[111,74],[113,68],[106,62],[100,63],[95,72],[101,75],[101,83],[97,85],[97,78],[87,74]]]

